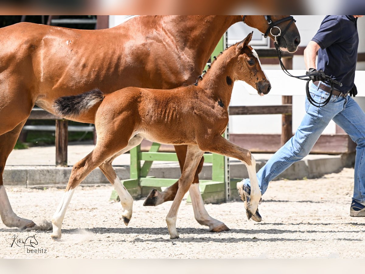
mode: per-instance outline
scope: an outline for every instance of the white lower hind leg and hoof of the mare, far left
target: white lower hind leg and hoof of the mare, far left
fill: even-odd
[[[4,225],[7,227],[18,227],[20,230],[35,227],[35,223],[33,221],[16,216],[11,208],[4,185],[0,186],[0,213],[1,220],[3,220]]]

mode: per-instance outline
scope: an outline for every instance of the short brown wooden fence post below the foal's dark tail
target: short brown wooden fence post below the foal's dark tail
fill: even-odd
[[[67,166],[68,121],[56,120],[56,166]]]

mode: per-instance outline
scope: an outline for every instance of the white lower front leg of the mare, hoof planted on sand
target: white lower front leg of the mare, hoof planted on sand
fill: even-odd
[[[201,225],[207,225],[210,231],[220,232],[229,230],[229,228],[221,221],[209,216],[205,210],[203,198],[201,198],[199,184],[192,184],[189,188],[191,203],[194,209],[194,216]]]

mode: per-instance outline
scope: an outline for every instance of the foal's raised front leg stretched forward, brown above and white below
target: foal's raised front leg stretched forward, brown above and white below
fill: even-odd
[[[241,160],[241,162],[246,165],[251,182],[251,199],[246,209],[247,217],[250,219],[253,214],[255,214],[261,198],[261,191],[256,177],[256,161],[251,152],[231,143],[220,135],[200,140],[198,145],[203,151],[210,151],[227,157],[233,157]]]

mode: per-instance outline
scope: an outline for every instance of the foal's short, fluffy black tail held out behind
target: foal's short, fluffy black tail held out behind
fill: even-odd
[[[78,95],[63,96],[53,101],[55,112],[61,117],[77,117],[91,109],[97,102],[103,101],[105,95],[99,88]]]

